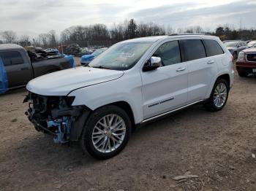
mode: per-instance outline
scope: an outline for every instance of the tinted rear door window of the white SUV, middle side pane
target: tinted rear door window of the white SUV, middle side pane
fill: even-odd
[[[206,50],[200,39],[182,40],[181,42],[185,52],[185,61],[206,57]]]

